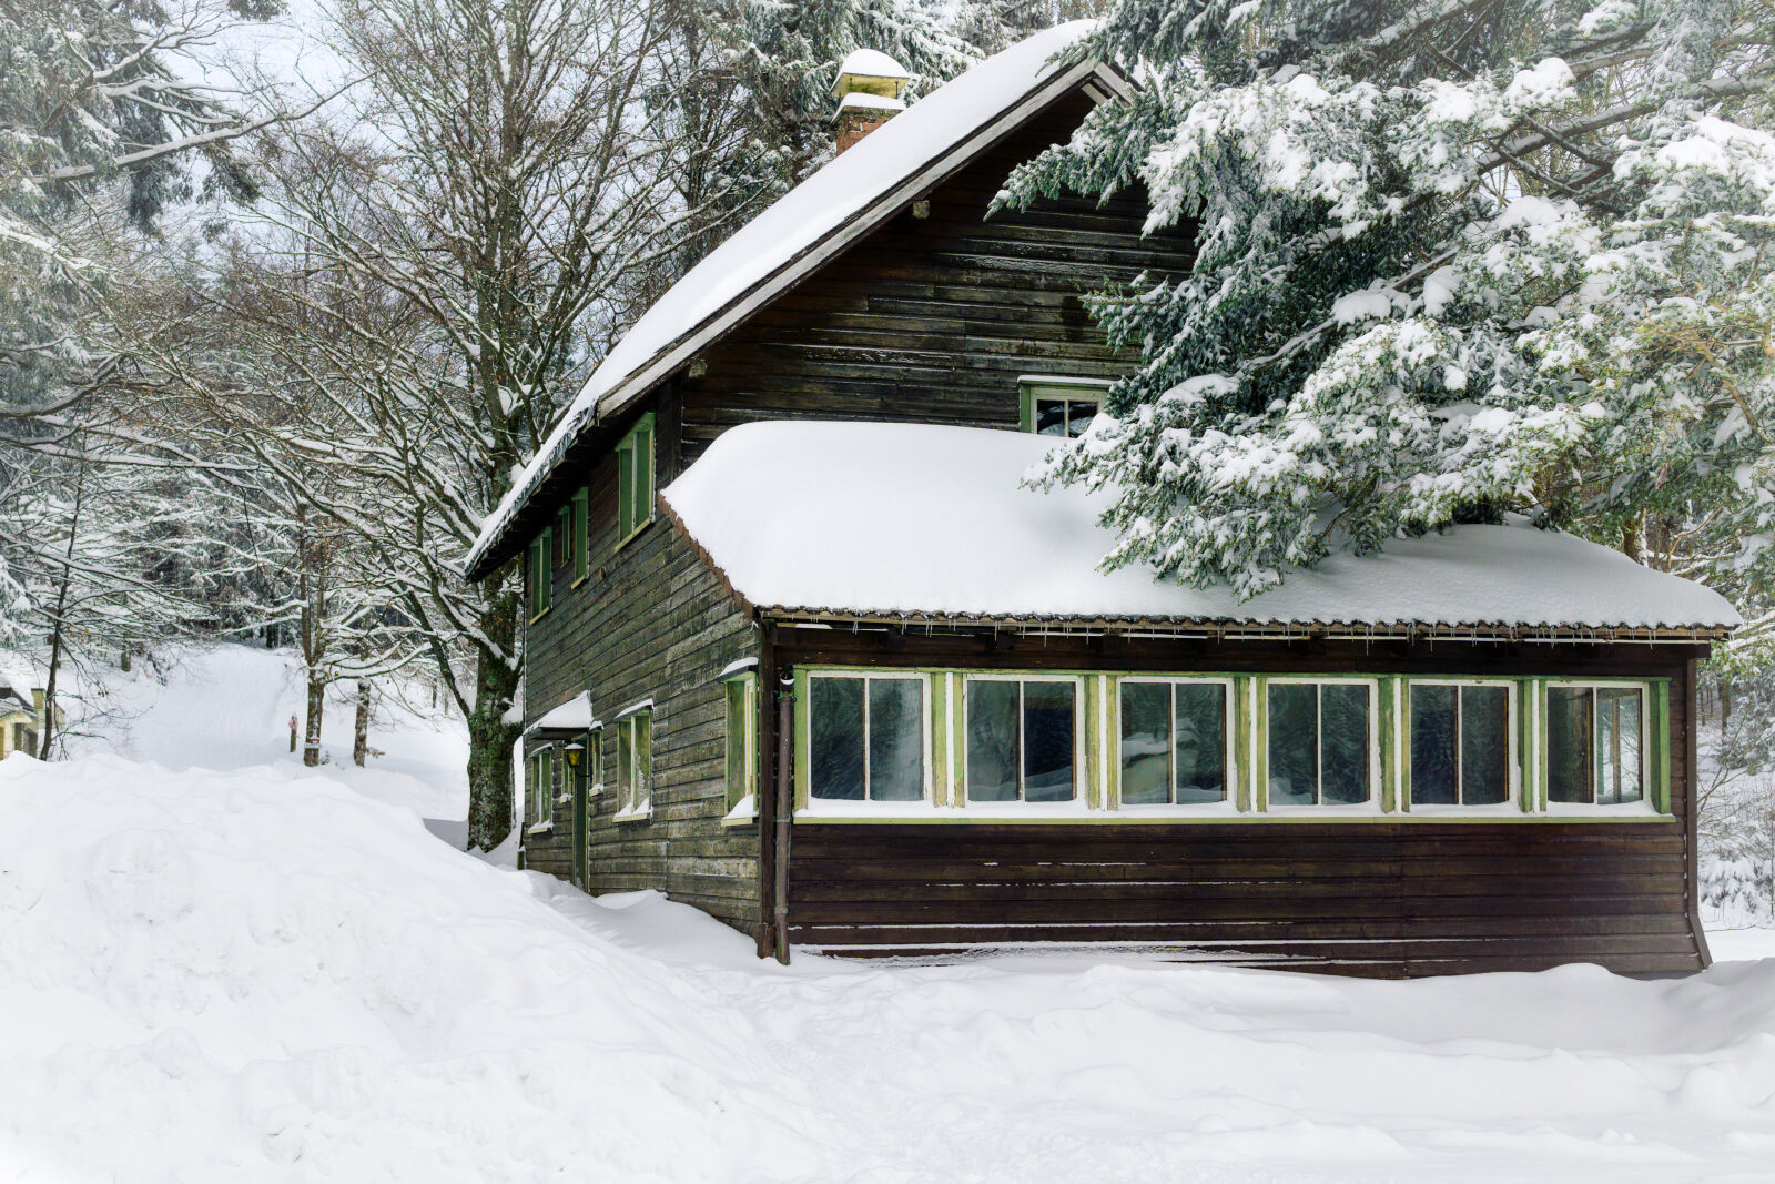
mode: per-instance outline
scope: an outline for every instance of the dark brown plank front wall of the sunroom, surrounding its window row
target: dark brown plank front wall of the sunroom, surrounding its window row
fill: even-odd
[[[1700,969],[1686,646],[1127,643],[783,630],[783,660],[1674,678],[1668,822],[804,824],[790,935],[847,953],[1108,941],[1354,975]]]

